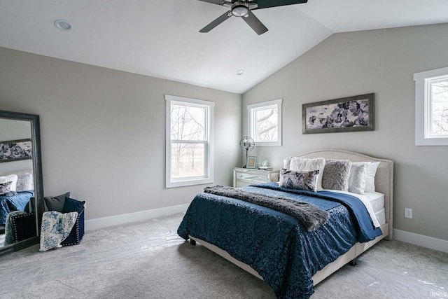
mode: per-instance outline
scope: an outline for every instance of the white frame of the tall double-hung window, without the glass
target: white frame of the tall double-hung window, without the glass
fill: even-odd
[[[213,183],[214,181],[214,102],[204,101],[201,99],[190,99],[188,97],[176,97],[174,95],[165,95],[166,101],[166,153],[165,153],[165,187],[181,187],[193,186],[204,183]],[[204,141],[205,157],[204,157],[204,176],[195,176],[188,178],[172,178],[172,139],[171,139],[171,105],[172,103],[183,104],[188,106],[194,105],[205,108],[207,111],[206,130]],[[202,142],[202,141],[200,141]]]

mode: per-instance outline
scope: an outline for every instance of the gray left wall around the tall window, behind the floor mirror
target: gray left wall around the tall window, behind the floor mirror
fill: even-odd
[[[241,95],[0,48],[0,110],[41,116],[45,195],[71,191],[95,219],[187,204],[165,189],[165,94],[215,102],[215,181],[241,158]]]

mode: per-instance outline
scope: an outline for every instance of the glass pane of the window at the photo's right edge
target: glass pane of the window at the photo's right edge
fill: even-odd
[[[431,83],[431,133],[448,135],[448,80]]]

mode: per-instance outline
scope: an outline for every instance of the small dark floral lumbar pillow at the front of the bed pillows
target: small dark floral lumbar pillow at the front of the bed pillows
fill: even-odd
[[[294,170],[281,169],[280,170],[280,187],[307,190],[317,192],[317,177],[319,171],[312,172],[296,172]]]

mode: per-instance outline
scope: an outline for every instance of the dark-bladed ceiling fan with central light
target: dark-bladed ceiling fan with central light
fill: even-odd
[[[226,6],[230,8],[230,11],[221,15],[216,20],[211,22],[206,27],[200,29],[199,32],[209,32],[214,27],[220,25],[222,22],[230,18],[232,15],[235,17],[242,18],[247,25],[249,25],[253,31],[255,31],[258,35],[264,34],[267,32],[267,28],[265,25],[258,20],[257,17],[251,12],[254,9],[261,8],[269,8],[275,6],[284,6],[291,4],[302,4],[307,3],[308,0],[200,0],[204,2],[208,2],[211,4],[218,4],[221,6]]]

